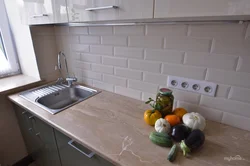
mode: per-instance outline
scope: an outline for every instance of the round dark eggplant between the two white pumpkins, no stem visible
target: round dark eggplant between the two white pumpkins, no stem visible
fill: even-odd
[[[179,124],[173,127],[171,136],[174,141],[181,142],[181,140],[184,140],[188,137],[190,132],[191,130],[187,126]]]

